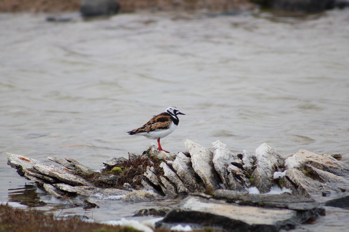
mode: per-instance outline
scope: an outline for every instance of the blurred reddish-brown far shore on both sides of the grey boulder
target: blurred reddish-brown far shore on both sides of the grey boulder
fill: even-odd
[[[81,0],[0,0],[0,12],[50,12],[77,11]],[[253,8],[248,0],[119,0],[121,12],[137,10],[197,10],[228,11]]]

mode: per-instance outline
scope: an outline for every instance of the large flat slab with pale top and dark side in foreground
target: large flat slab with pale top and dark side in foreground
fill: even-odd
[[[263,195],[265,201],[269,195]],[[272,202],[272,200],[269,200]],[[240,202],[243,202],[242,200]],[[293,210],[287,208],[254,207],[199,196],[185,198],[178,207],[167,213],[156,226],[169,227],[176,223],[220,226],[234,232],[270,231],[290,229],[308,219],[324,214],[324,209]]]

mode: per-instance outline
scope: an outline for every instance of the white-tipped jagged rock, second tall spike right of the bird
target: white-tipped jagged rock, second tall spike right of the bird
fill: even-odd
[[[213,165],[220,175],[223,184],[231,190],[242,190],[245,188],[245,181],[250,181],[244,174],[244,171],[237,166],[242,167],[242,160],[227,145],[219,140],[213,145]],[[248,182],[248,186],[250,182]]]

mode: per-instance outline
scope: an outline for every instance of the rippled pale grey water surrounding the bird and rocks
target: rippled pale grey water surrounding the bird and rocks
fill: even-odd
[[[348,162],[348,13],[95,21],[72,13],[67,23],[0,14],[0,201],[30,184],[6,165],[5,152],[49,163],[47,156],[70,157],[98,169],[146,150],[155,141],[126,131],[169,106],[186,114],[162,139],[171,152],[184,151],[186,138],[209,148],[219,139],[235,152],[266,142],[283,155],[306,149]],[[108,202],[93,217],[117,219],[140,207],[114,210],[121,205]],[[65,212],[74,210],[84,211]]]

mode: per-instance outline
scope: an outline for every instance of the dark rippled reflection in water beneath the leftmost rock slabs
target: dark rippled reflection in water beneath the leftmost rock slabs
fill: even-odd
[[[45,202],[40,201],[40,197],[36,193],[36,187],[33,184],[25,184],[18,189],[8,190],[9,201],[14,201],[29,207],[44,206]]]

